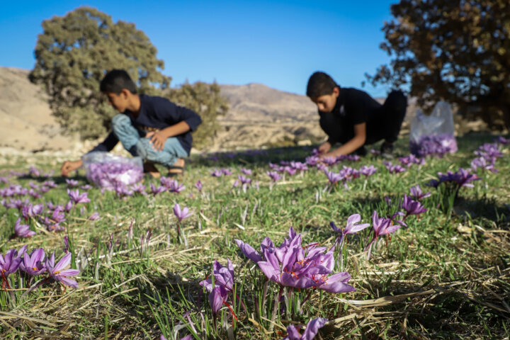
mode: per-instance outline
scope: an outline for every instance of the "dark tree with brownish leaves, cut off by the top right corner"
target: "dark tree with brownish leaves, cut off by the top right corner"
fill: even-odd
[[[510,128],[508,0],[401,0],[382,28],[392,56],[368,80],[409,88],[430,108],[443,100]]]

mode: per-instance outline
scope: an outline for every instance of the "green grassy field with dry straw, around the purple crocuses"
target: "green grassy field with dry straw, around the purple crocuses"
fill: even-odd
[[[47,272],[31,277],[4,269],[0,339],[159,339],[161,334],[166,339],[283,339],[288,327],[305,326],[317,317],[328,321],[315,339],[509,339],[510,145],[497,146],[502,155],[494,167],[499,172],[472,171],[480,179],[469,183],[473,188],[460,187],[456,197],[448,192],[448,183],[426,186],[438,179],[438,172],[469,168],[477,157],[474,152],[493,140],[491,135],[461,137],[455,154],[426,157],[424,164],[403,166],[400,173],[390,173],[375,154],[329,166],[336,172],[342,166],[377,168],[372,176],[344,177],[345,186],[343,181],[330,185],[324,171],[312,165],[292,175],[282,168],[282,178],[271,181],[266,171],[278,169],[271,169],[269,162],[305,162],[311,147],[203,154],[191,157],[185,176],[176,178],[185,186],[180,193],[171,183],[174,190],[154,195],[149,184],[157,188],[160,180],[145,177],[147,195],[131,196],[94,187],[84,190],[84,170],[71,178],[77,183],[68,183],[56,175],[55,160],[49,157],[35,157],[35,164],[8,159],[0,169],[4,193],[11,184],[33,191],[48,180],[57,186],[39,198],[4,195],[0,254],[28,244],[27,254],[36,248],[47,256],[55,251],[57,263],[67,248],[72,267],[80,273],[69,277],[78,283],[72,288],[48,278]],[[400,142],[396,153],[407,156],[407,142]],[[392,163],[399,164],[399,159]],[[43,176],[51,170],[55,176]],[[215,171],[217,176],[212,176]],[[243,185],[244,179],[251,183]],[[396,229],[403,217],[394,214],[404,211],[404,194],[416,185],[431,192],[421,199],[426,211],[406,213],[405,226],[380,235],[369,246],[373,212],[393,217],[390,227]],[[57,224],[55,219],[62,217],[47,212],[47,202],[66,205],[68,188],[87,192],[90,202],[68,206],[69,212],[62,212],[65,220]],[[44,210],[25,211],[24,219],[21,205],[28,203],[18,205],[20,209],[5,206],[14,198],[44,203]],[[176,203],[192,215],[179,221]],[[89,218],[96,212],[98,220]],[[330,222],[344,229],[353,214],[370,226],[346,235],[343,247],[331,249],[340,234]],[[42,215],[49,216],[46,224],[53,222],[53,227],[45,227]],[[20,217],[35,235],[13,236]],[[292,288],[283,278],[297,280],[301,274],[285,268],[267,280],[235,241],[260,253],[265,237],[276,246],[285,237],[292,241],[290,227],[301,234],[304,254],[318,247],[325,247],[324,254],[331,249],[332,273],[349,273],[348,285],[356,291],[329,293],[319,289],[320,280],[317,286],[296,283]],[[221,275],[210,274],[215,261],[226,267],[227,259],[234,267],[233,285],[222,292],[225,302],[221,300],[213,314],[216,302],[210,303],[199,283],[208,278],[220,288]],[[321,279],[327,281],[326,276]],[[327,283],[322,288],[327,289]]]

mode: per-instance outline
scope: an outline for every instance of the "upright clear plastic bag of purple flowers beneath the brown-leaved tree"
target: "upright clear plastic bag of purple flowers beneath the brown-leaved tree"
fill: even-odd
[[[421,110],[416,111],[411,122],[409,148],[412,154],[419,157],[429,154],[443,157],[457,151],[455,125],[449,103],[439,101],[431,115],[425,115]]]

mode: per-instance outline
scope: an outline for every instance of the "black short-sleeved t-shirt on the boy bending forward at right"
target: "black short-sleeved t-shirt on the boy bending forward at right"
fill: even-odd
[[[366,135],[370,136],[375,128],[375,118],[381,104],[365,91],[353,88],[341,88],[333,113],[341,130],[338,135],[329,136],[329,142],[347,142],[354,137],[354,125],[366,123]],[[319,112],[320,114],[320,112]]]

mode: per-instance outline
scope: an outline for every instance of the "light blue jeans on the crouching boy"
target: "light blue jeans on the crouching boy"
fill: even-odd
[[[150,138],[140,137],[138,130],[131,124],[130,118],[122,113],[113,117],[112,130],[130,154],[142,157],[144,161],[169,167],[174,165],[178,158],[188,156],[176,137],[167,138],[161,151],[153,149]]]

